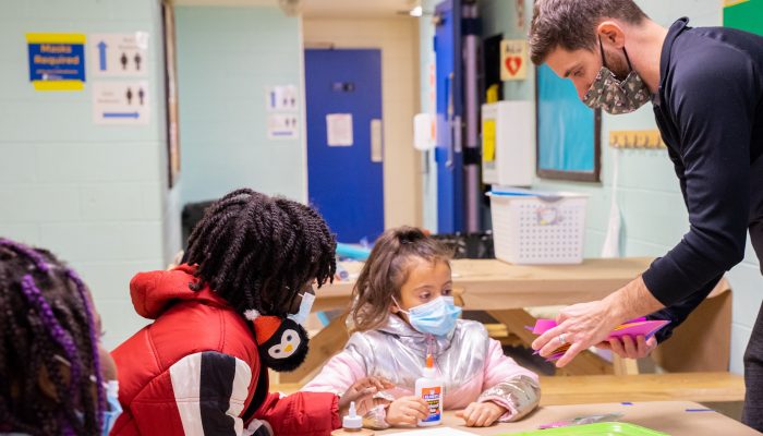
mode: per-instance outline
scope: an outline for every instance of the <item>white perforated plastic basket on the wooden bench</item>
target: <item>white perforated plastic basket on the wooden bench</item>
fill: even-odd
[[[497,258],[525,265],[583,262],[586,195],[497,186],[488,195]]]

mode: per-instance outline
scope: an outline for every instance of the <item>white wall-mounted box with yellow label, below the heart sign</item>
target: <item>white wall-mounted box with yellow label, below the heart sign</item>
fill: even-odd
[[[529,186],[535,175],[535,108],[532,101],[482,106],[482,181]]]

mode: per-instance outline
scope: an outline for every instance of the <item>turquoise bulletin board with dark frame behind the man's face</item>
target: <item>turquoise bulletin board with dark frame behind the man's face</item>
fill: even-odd
[[[536,69],[535,93],[537,175],[598,182],[601,111],[583,105],[572,82],[547,65]]]

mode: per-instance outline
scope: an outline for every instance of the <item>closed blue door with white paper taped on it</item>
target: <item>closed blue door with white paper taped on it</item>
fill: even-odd
[[[310,202],[338,241],[373,242],[384,231],[382,52],[305,50],[305,98]]]

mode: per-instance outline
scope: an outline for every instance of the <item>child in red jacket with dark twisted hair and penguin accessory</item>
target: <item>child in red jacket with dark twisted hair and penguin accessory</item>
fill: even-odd
[[[336,242],[314,209],[239,190],[213,204],[185,262],[130,282],[154,323],[113,351],[124,409],[112,435],[328,435],[350,401],[389,386],[367,378],[334,393],[268,392],[267,367],[307,353],[312,286],[336,271]]]

